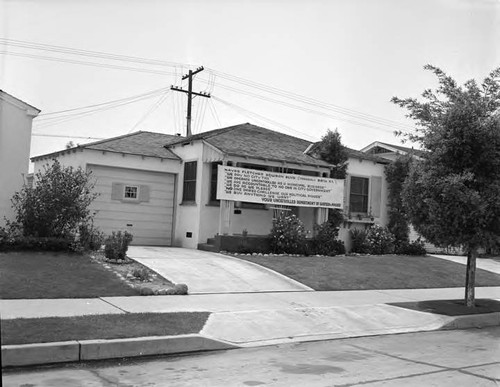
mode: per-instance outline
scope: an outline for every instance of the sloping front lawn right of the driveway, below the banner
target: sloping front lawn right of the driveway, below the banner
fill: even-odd
[[[239,256],[293,278],[314,290],[463,287],[465,266],[434,257]],[[500,275],[476,272],[476,286],[500,286]]]

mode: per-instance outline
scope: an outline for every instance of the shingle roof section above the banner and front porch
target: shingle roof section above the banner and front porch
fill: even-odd
[[[311,145],[310,141],[249,123],[195,134],[176,143],[194,140],[204,140],[220,151],[232,156],[322,167],[329,166],[325,161],[304,153],[308,146]]]

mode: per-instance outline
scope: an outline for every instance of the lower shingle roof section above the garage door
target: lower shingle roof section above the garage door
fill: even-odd
[[[78,145],[75,148],[93,149],[106,152],[126,153],[139,156],[160,157],[164,159],[180,160],[170,149],[164,147],[173,141],[178,141],[179,136],[154,132],[134,132],[123,136],[113,137],[106,140]],[[33,157],[36,160],[41,157],[55,156],[67,150],[54,152],[46,155]]]

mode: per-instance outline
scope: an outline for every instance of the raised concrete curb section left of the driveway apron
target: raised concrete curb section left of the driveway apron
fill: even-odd
[[[199,334],[2,346],[2,368],[234,349]]]

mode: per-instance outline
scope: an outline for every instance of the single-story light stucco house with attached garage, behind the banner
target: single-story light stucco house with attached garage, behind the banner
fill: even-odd
[[[135,244],[197,248],[215,235],[267,235],[277,211],[290,211],[313,233],[328,209],[217,199],[219,165],[327,178],[330,165],[313,157],[309,141],[241,124],[190,137],[151,132],[103,140],[34,157],[35,172],[57,158],[91,170],[99,198],[96,222],[105,232],[130,230]],[[344,210],[348,230],[387,223],[388,161],[349,150]],[[339,204],[340,206],[340,204]]]

